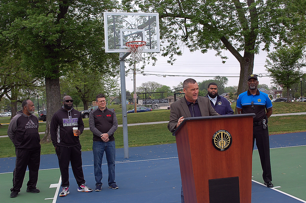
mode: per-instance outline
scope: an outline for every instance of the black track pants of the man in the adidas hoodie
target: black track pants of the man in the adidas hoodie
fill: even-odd
[[[28,189],[36,188],[40,164],[40,149],[23,150],[15,148],[16,165],[13,172],[13,187],[11,192],[20,192],[27,167],[29,168]]]

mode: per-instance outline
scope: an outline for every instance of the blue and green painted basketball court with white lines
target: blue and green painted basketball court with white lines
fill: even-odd
[[[300,192],[306,190],[306,181],[304,181],[306,175],[305,161],[303,163],[300,161],[300,158],[304,157],[303,153],[306,152],[306,132],[272,135],[270,139],[271,166],[275,188],[267,188],[262,184],[259,156],[256,149],[254,149],[252,203],[306,202],[304,192],[303,194]],[[292,157],[292,154],[297,157]],[[66,197],[59,197],[58,195],[62,188],[60,187],[61,176],[58,169],[57,156],[55,154],[41,155],[37,183],[37,187],[41,192],[38,194],[26,193],[27,172],[24,186],[16,198],[9,198],[15,158],[1,158],[0,177],[3,189],[0,191],[0,195],[4,200],[2,202],[181,202],[181,175],[176,144],[131,147],[129,148],[129,158],[125,159],[123,157],[123,149],[116,149],[115,181],[119,186],[118,189],[108,188],[107,164],[106,160],[104,160],[105,162],[103,162],[102,166],[102,171],[104,172],[102,191],[77,192],[77,184],[70,168],[70,194]],[[83,152],[82,160],[86,184],[94,189],[95,178],[92,151]],[[297,160],[297,163],[295,163],[295,160]],[[289,169],[286,173],[278,172],[280,168]],[[289,175],[288,178],[286,175]]]

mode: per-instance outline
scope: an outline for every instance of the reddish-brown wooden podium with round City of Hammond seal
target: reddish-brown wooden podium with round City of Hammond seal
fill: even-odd
[[[186,203],[251,203],[253,117],[185,118],[173,132]]]

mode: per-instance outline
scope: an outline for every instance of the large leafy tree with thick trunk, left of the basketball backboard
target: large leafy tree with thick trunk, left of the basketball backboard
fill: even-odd
[[[106,54],[100,12],[118,2],[85,1],[2,1],[0,5],[0,50],[18,47],[22,66],[35,77],[45,79],[47,125],[42,141],[50,141],[50,121],[61,107],[59,78],[69,64],[96,67],[109,73],[117,69],[118,54]]]

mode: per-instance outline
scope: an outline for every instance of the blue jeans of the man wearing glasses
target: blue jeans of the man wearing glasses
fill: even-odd
[[[100,142],[93,141],[92,152],[94,154],[94,172],[96,186],[102,185],[102,159],[105,151],[107,167],[108,167],[108,186],[111,186],[115,182],[115,155],[116,147],[115,141]]]

